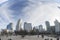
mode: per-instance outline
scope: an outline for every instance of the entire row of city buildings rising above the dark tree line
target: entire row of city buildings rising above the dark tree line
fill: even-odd
[[[20,30],[25,30],[27,32],[30,32],[32,30],[34,30],[34,31],[38,30],[39,32],[47,31],[48,33],[51,33],[51,32],[59,33],[60,32],[60,22],[58,20],[54,21],[54,24],[55,24],[54,26],[51,26],[49,21],[45,21],[45,24],[46,24],[46,30],[43,28],[43,25],[41,25],[41,24],[38,26],[32,27],[32,23],[24,22],[22,25],[22,21],[21,21],[21,19],[19,19],[17,21],[17,25],[15,26],[16,27],[15,30],[13,30],[13,23],[9,23],[7,25],[7,28],[2,29],[2,30],[6,30],[6,31],[9,30],[10,32],[20,31]]]

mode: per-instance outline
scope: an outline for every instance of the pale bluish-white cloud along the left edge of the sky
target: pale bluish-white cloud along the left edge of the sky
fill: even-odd
[[[12,22],[7,7],[7,3],[0,7],[0,30],[5,29],[7,25]]]

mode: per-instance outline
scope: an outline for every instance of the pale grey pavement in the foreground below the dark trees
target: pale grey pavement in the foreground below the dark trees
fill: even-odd
[[[57,40],[57,38],[54,37],[48,37],[44,36],[44,38],[41,37],[41,35],[37,36],[25,36],[22,38],[21,36],[0,36],[1,40]],[[59,39],[60,40],[60,39]]]

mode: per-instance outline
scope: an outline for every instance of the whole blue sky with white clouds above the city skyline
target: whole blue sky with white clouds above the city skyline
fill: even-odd
[[[50,25],[54,25],[55,19],[60,22],[60,0],[0,0],[0,5],[0,29],[10,22],[16,25],[18,19],[33,26],[42,24],[44,28],[45,21]]]

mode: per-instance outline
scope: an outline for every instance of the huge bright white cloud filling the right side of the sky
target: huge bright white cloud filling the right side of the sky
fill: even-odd
[[[51,25],[54,25],[54,20],[60,20],[60,9],[57,7],[58,3],[41,3],[34,2],[25,8],[25,13],[29,15],[28,22],[33,25],[43,24],[45,27],[45,21],[50,21]]]

